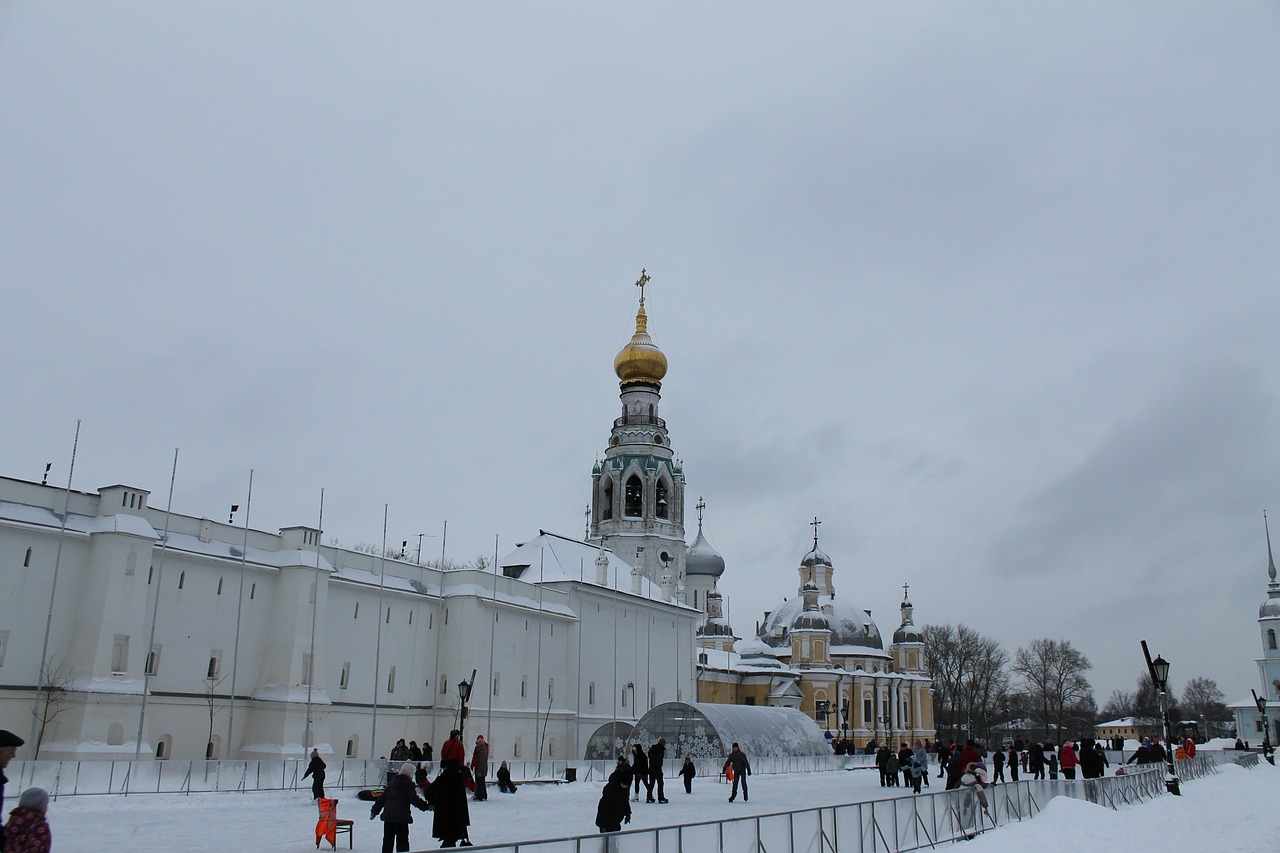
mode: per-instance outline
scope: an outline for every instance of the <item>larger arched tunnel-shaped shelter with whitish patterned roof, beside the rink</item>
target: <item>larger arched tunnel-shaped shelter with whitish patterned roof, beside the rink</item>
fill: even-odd
[[[672,758],[723,758],[737,743],[755,756],[829,756],[818,724],[795,708],[664,702],[636,722],[632,740],[645,748],[667,739]]]

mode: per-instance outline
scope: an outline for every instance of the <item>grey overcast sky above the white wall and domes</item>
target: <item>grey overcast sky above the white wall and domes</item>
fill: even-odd
[[[1257,686],[1274,3],[8,3],[0,474],[581,535],[634,328],[737,633],[796,594]],[[1280,519],[1277,519],[1280,520]],[[696,519],[686,517],[690,538]],[[1280,525],[1277,525],[1280,526]],[[1280,529],[1277,529],[1280,537]]]

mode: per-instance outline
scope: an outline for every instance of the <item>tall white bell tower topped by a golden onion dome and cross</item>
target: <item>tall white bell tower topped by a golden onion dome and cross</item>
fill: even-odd
[[[613,421],[604,457],[591,471],[588,538],[608,537],[618,557],[653,583],[685,576],[685,473],[671,450],[667,421],[658,416],[667,356],[649,337],[640,270],[636,330],[613,360],[622,414]]]

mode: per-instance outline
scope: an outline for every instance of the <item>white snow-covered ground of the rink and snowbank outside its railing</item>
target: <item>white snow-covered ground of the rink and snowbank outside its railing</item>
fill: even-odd
[[[728,803],[728,788],[714,779],[695,779],[692,794],[685,794],[680,779],[672,779],[667,785],[671,803],[632,803],[635,817],[628,829],[850,803],[887,793],[874,771],[756,775],[750,781],[750,802],[740,798]],[[937,780],[932,781],[937,785]],[[490,788],[488,802],[470,803],[471,839],[476,844],[494,844],[594,833],[599,789],[595,783],[522,785],[518,793],[504,795]],[[1280,849],[1276,767],[1261,763],[1243,770],[1224,765],[1216,776],[1184,783],[1183,792],[1181,798],[1164,795],[1120,812],[1060,797],[1034,820],[984,833],[965,843],[964,849],[965,853],[1274,853]],[[6,792],[10,808],[18,793],[12,785]],[[358,802],[355,793],[342,790],[329,795],[340,800],[339,817],[356,821],[355,849],[379,850],[381,822],[369,820],[369,804]],[[438,848],[430,833],[430,813],[416,815],[410,834],[412,849]],[[49,818],[56,853],[315,850],[316,809],[303,792],[65,797],[50,804]],[[346,839],[339,844],[339,849],[346,849]]]

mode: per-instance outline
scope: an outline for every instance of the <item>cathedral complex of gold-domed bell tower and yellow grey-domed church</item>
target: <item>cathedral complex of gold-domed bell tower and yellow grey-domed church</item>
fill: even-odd
[[[701,500],[698,533],[685,544],[685,473],[658,414],[668,364],[649,336],[648,283],[641,272],[635,334],[613,361],[622,412],[591,473],[590,540],[700,611],[698,701],[799,708],[858,745],[932,738],[933,681],[906,587],[886,648],[872,611],[852,596],[837,598],[817,519],[796,596],[764,615],[756,637],[744,640],[726,621],[717,589],[726,565],[703,532]]]

